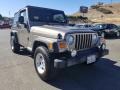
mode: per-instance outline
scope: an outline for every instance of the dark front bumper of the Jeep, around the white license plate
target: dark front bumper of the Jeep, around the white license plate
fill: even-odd
[[[109,50],[101,50],[98,48],[92,48],[85,51],[77,52],[77,55],[75,57],[69,57],[69,58],[59,58],[54,60],[54,67],[55,68],[65,68],[69,66],[73,66],[79,63],[84,63],[87,61],[87,57],[90,55],[95,55],[96,59],[99,59],[100,57],[103,57],[105,55],[109,54]]]

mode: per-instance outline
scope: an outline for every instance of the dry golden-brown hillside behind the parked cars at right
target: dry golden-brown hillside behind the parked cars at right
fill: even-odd
[[[110,12],[109,14],[103,11]],[[73,16],[82,15],[79,12],[73,14]],[[99,8],[89,8],[85,17],[88,17],[89,20],[93,22],[106,22],[106,23],[115,23],[120,24],[120,3],[106,4],[101,5]]]

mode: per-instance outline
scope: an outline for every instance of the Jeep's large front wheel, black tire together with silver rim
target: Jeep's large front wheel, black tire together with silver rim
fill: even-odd
[[[54,68],[54,61],[50,59],[48,49],[40,46],[35,50],[34,66],[38,76],[43,81],[49,81],[56,76],[56,69]]]

